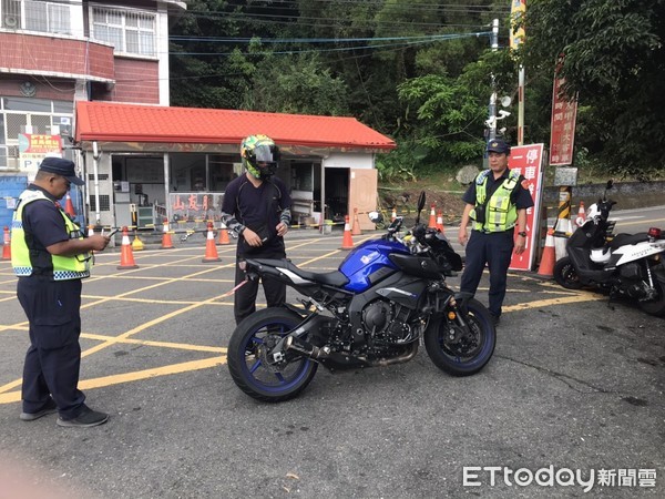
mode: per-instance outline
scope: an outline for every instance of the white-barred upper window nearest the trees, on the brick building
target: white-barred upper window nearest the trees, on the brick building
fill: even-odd
[[[147,12],[93,7],[92,37],[112,43],[116,52],[154,57],[156,18]]]

